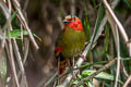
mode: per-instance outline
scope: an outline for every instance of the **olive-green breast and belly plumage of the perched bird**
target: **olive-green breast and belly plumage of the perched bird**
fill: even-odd
[[[76,57],[83,50],[85,41],[84,30],[74,30],[67,27],[61,34],[61,45],[63,47],[61,54],[63,58]]]

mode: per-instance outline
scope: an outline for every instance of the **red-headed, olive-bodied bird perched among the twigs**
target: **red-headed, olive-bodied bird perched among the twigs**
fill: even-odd
[[[85,32],[79,17],[68,15],[63,20],[63,24],[64,28],[58,38],[55,50],[56,57],[60,58],[60,74],[63,73],[67,61],[69,62],[71,58],[79,55],[86,41]]]

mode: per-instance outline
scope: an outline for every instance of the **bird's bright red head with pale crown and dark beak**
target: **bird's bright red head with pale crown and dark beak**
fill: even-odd
[[[66,16],[66,18],[63,20],[64,23],[64,29],[67,29],[67,27],[70,27],[74,30],[83,30],[83,26],[82,26],[82,22],[80,21],[79,17],[74,16],[74,15],[68,15]]]

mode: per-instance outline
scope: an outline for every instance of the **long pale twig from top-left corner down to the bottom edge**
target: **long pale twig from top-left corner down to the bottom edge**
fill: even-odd
[[[9,48],[8,48],[8,45],[5,45],[5,47],[7,47],[7,50],[9,50],[9,60],[10,60],[10,64],[11,64],[11,69],[12,69],[12,72],[13,72],[13,76],[14,76],[16,86],[20,87],[19,78],[17,78],[17,75],[16,75],[15,63],[14,63],[12,42],[11,42],[11,38],[10,38],[11,13],[8,10],[5,3],[2,0],[0,1],[0,8],[2,9],[2,11],[3,11],[4,15],[5,15],[5,18],[7,18],[7,24],[5,25],[7,25],[7,28],[8,28]]]

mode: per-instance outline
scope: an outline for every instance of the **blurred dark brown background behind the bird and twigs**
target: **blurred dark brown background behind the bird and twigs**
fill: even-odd
[[[62,20],[66,15],[75,14],[82,22],[87,16],[91,35],[97,17],[100,0],[20,0],[22,8],[27,12],[27,20],[33,33],[43,39],[37,40],[40,50],[36,51],[32,46],[26,63],[26,74],[29,87],[38,87],[45,84],[57,72],[57,59],[55,59],[55,44],[63,27]],[[108,0],[111,2],[112,0]],[[86,15],[87,12],[87,15]],[[129,37],[131,37],[131,7],[124,0],[120,0],[115,9],[120,22],[123,24]],[[98,46],[103,45],[103,38]]]

